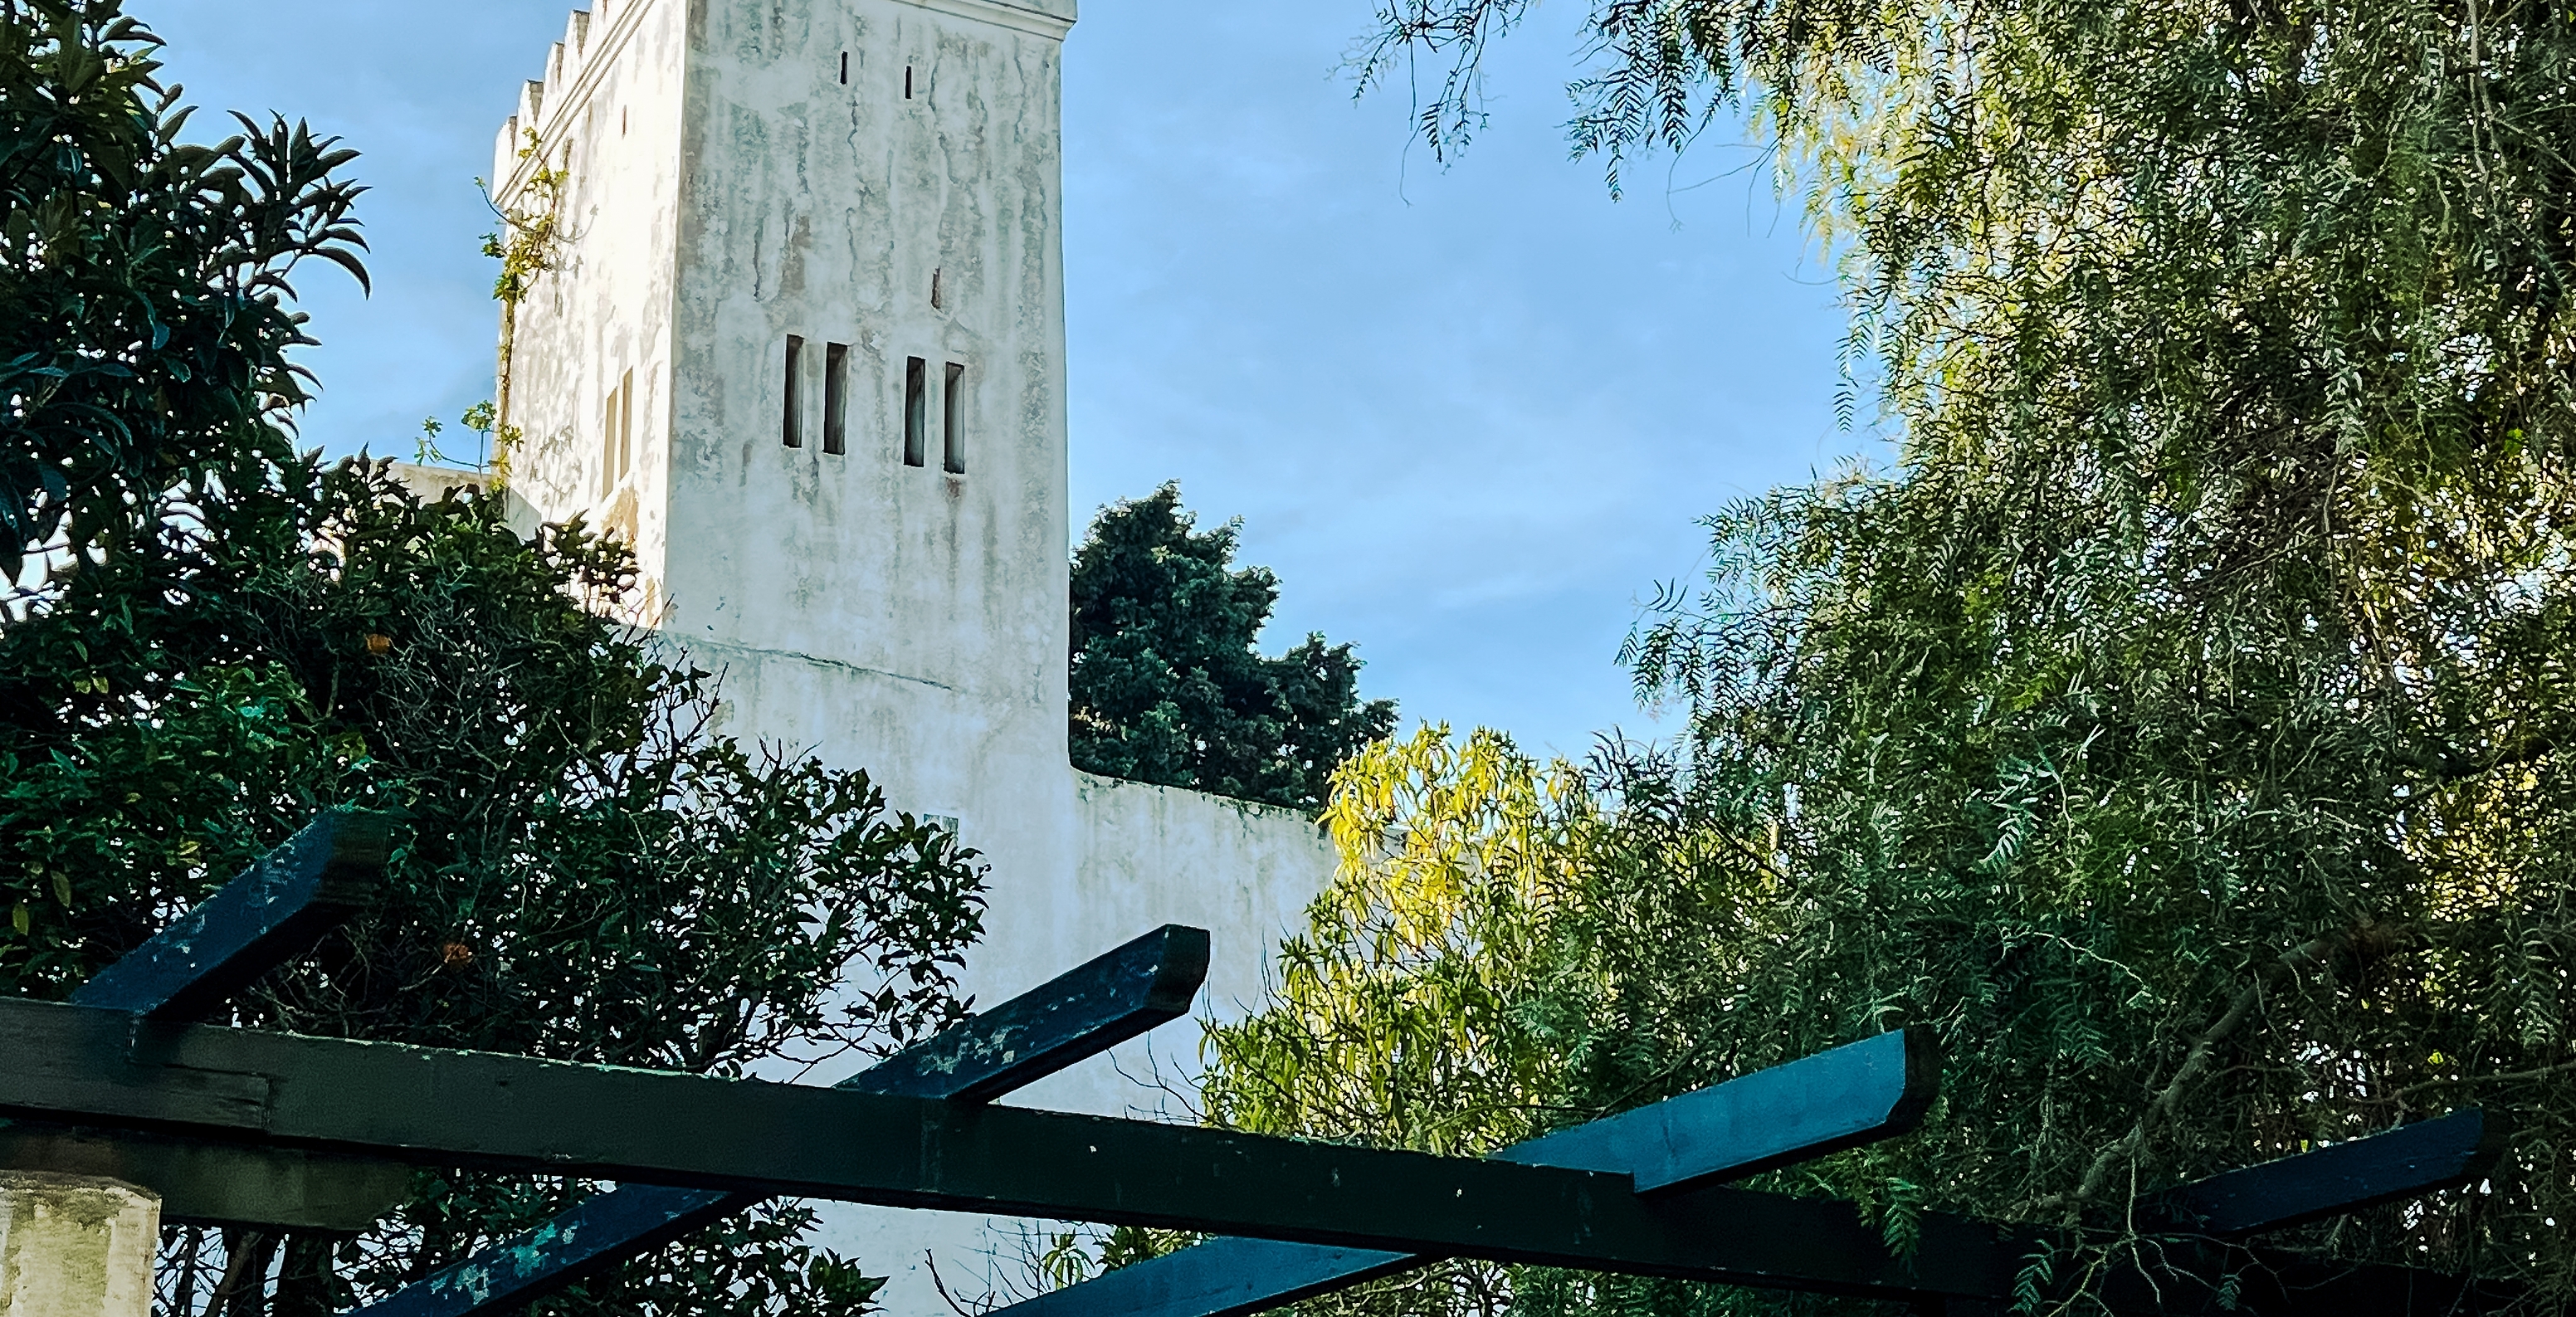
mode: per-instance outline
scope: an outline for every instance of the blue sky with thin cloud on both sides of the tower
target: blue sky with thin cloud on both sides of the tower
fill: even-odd
[[[1337,72],[1368,0],[1084,0],[1064,52],[1074,531],[1180,479],[1280,575],[1273,649],[1358,642],[1406,719],[1571,755],[1651,729],[1613,660],[1700,564],[1695,518],[1862,448],[1832,415],[1832,281],[1744,149],[1656,160],[1623,201],[1566,157],[1579,8],[1502,49],[1453,168],[1409,139],[1406,88],[1355,101]],[[366,152],[376,294],[307,276],[307,441],[410,456],[422,415],[487,397],[471,180],[564,5],[129,10],[206,113]]]

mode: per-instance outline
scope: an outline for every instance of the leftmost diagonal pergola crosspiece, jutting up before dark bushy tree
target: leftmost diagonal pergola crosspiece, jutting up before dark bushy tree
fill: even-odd
[[[389,848],[386,817],[332,809],[72,990],[72,1003],[206,1018],[374,899]]]

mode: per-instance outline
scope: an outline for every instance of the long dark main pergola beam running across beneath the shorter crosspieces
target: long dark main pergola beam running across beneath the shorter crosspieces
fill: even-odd
[[[2009,1299],[2048,1235],[1924,1214],[1896,1255],[1832,1198],[1425,1157],[1007,1106],[301,1039],[0,1000],[0,1116],[170,1129],[533,1175],[1200,1229],[1873,1299]],[[2187,1242],[2184,1242],[2187,1245]],[[2174,1258],[2200,1258],[2187,1247]],[[2221,1258],[2221,1255],[2210,1255]],[[2223,1258],[2236,1258],[2228,1253]],[[2300,1276],[2295,1258],[2254,1258]],[[2210,1263],[2215,1265],[2215,1263]],[[2447,1312],[2434,1276],[2334,1265],[2344,1312]],[[2316,1271],[2316,1268],[2311,1268]],[[2218,1273],[2190,1273],[2213,1296]],[[2117,1281],[2117,1278],[2115,1278]],[[2329,1286],[2331,1283],[2331,1286]],[[2172,1278],[2107,1289],[2172,1307]],[[2249,1312],[2269,1307],[2262,1289]],[[2450,1299],[2458,1299],[2452,1286]],[[2215,1312],[2215,1299],[2210,1304]]]

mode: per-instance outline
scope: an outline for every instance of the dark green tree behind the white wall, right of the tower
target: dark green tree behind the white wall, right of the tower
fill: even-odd
[[[1180,487],[1100,510],[1074,554],[1074,765],[1321,809],[1332,765],[1396,724],[1360,701],[1350,644],[1255,647],[1278,577],[1234,567],[1236,526],[1200,534]]]

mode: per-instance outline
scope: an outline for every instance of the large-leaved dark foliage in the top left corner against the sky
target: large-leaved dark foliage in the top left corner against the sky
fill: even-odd
[[[304,124],[214,147],[155,85],[157,39],[116,0],[0,0],[0,577],[23,546],[88,557],[162,487],[255,446],[304,397],[286,276],[366,281],[332,178],[355,152]],[[142,294],[142,296],[137,296]]]

